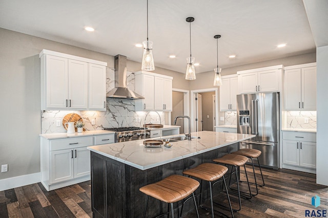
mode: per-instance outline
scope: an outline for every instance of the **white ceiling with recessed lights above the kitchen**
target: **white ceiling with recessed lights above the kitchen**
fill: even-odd
[[[0,27],[141,61],[146,40],[146,0],[0,1]],[[301,0],[149,0],[149,40],[156,67],[185,73],[191,24],[196,72],[315,52]],[[84,27],[92,26],[94,32]],[[286,47],[277,45],[286,43]],[[175,54],[176,58],[169,58]],[[228,56],[235,54],[236,58]],[[156,68],[155,68],[156,71]]]

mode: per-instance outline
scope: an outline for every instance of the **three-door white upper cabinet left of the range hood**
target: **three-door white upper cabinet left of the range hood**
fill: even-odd
[[[43,50],[41,110],[106,110],[106,62]]]

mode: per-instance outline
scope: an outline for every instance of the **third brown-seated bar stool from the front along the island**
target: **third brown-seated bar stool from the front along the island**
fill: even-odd
[[[237,180],[237,190],[232,189],[232,188],[231,189],[234,190],[234,191],[237,191],[238,199],[239,199],[239,209],[237,209],[236,211],[239,211],[241,209],[241,194],[240,193],[249,195],[249,197],[247,195],[242,195],[242,197],[244,197],[246,199],[251,199],[252,198],[251,187],[250,187],[250,184],[248,182],[247,171],[246,171],[246,167],[245,167],[245,163],[247,163],[248,158],[245,157],[245,156],[242,156],[242,155],[228,154],[228,155],[224,155],[221,158],[214,159],[213,161],[216,162],[216,163],[232,166],[231,173],[230,173],[230,180],[229,180],[229,188],[231,188],[230,187],[231,177],[232,177],[233,173],[235,173],[236,180]],[[242,192],[242,191],[240,191],[240,188],[239,188],[238,167],[240,167],[242,165],[244,166],[245,175],[246,175],[246,179],[247,179],[247,182],[248,182],[249,193]],[[233,169],[235,169],[235,170],[233,170]]]

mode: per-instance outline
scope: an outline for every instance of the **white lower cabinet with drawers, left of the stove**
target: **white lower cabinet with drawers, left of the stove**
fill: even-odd
[[[114,143],[115,134],[64,139],[41,137],[41,183],[50,191],[90,180],[88,146]]]

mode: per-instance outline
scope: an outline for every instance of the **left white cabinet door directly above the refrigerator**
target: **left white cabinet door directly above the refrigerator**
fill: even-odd
[[[257,72],[238,75],[238,88],[240,94],[257,92],[257,83]]]

